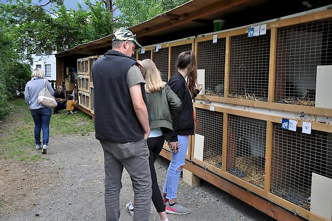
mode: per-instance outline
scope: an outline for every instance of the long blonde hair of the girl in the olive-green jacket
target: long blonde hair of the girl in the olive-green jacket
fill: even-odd
[[[156,65],[151,59],[144,59],[142,61],[144,68],[140,69],[146,84],[145,84],[145,92],[153,93],[158,92],[163,89],[166,82],[163,82],[160,77],[160,72],[157,69]]]

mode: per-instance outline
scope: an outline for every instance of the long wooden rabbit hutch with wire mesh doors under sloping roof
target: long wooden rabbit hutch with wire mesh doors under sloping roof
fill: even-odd
[[[153,60],[165,82],[178,55],[195,52],[203,90],[184,168],[277,220],[332,220],[328,4],[195,0],[129,28],[144,46],[132,57]],[[225,29],[211,30],[215,19]],[[77,67],[79,105],[93,116],[90,70],[111,37],[78,47],[57,55],[59,76]],[[160,154],[171,159],[167,143]]]

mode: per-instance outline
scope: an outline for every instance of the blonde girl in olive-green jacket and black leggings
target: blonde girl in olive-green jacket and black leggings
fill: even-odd
[[[151,133],[148,138],[150,150],[150,171],[152,179],[152,202],[159,213],[161,221],[168,221],[165,212],[165,205],[160,194],[157,182],[157,174],[154,162],[164,144],[164,140],[169,141],[173,134],[172,118],[176,118],[180,113],[181,101],[171,90],[167,83],[162,82],[160,72],[150,59],[142,61],[144,68],[141,73],[146,81],[145,92],[147,95],[149,112],[151,115]],[[134,202],[126,205],[126,211],[133,214]]]

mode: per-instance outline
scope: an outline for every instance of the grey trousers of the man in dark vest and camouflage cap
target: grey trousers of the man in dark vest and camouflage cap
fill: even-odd
[[[106,221],[120,217],[121,177],[125,167],[133,184],[134,221],[147,221],[151,208],[151,173],[147,140],[118,144],[100,141],[104,149]]]

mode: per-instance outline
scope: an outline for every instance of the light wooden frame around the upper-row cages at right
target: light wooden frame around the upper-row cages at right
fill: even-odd
[[[225,86],[224,86],[224,97],[210,96],[210,95],[198,95],[197,99],[209,100],[220,103],[229,103],[235,105],[244,105],[252,107],[270,108],[279,111],[288,112],[304,112],[307,114],[320,115],[332,117],[332,109],[315,107],[315,106],[302,106],[294,104],[277,103],[274,101],[275,95],[275,72],[276,72],[276,50],[277,50],[277,31],[278,28],[287,26],[308,23],[311,21],[323,20],[332,18],[332,9],[323,11],[313,12],[310,14],[304,14],[297,17],[291,17],[281,20],[275,20],[267,22],[267,30],[271,31],[271,45],[270,45],[270,67],[269,67],[269,87],[268,87],[268,101],[255,101],[255,100],[244,100],[229,98],[229,71],[230,71],[230,40],[232,36],[246,34],[248,27],[243,27],[230,31],[222,31],[218,33],[212,33],[207,35],[199,36],[195,39],[195,54],[198,56],[198,43],[201,41],[212,40],[214,34],[217,34],[219,38],[226,38],[226,58],[225,58]],[[265,24],[265,23],[261,23]],[[197,59],[198,60],[198,59]]]

